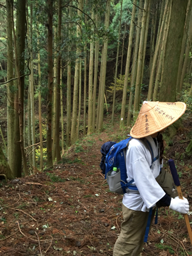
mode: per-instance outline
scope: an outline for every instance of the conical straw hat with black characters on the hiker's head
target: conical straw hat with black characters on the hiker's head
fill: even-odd
[[[179,119],[185,110],[184,102],[145,101],[130,134],[133,138],[143,138],[159,132]]]

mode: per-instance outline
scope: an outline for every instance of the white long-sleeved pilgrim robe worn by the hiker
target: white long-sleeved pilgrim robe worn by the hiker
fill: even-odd
[[[154,142],[151,136],[147,136],[154,157],[159,154],[159,145]],[[156,177],[159,175],[160,168],[163,164],[159,164],[159,158],[152,164],[152,156],[150,151],[141,140],[134,139],[129,142],[129,147],[126,152],[126,168],[127,182],[134,179],[132,184],[135,184],[140,194],[125,193],[122,203],[129,209],[135,211],[149,211],[150,207],[154,207],[165,195],[163,189],[156,182]]]

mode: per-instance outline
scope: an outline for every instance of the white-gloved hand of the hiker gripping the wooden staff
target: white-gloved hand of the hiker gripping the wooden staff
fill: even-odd
[[[182,214],[187,214],[189,211],[188,199],[186,198],[179,199],[179,196],[172,198],[170,209],[172,209],[173,211],[180,212]]]

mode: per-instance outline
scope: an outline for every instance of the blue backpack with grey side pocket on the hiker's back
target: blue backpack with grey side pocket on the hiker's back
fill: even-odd
[[[102,153],[102,161],[100,163],[102,173],[105,174],[105,179],[107,179],[109,190],[118,194],[126,193],[127,188],[134,190],[135,193],[138,191],[136,186],[131,185],[131,183],[134,182],[133,179],[127,182],[125,154],[126,148],[128,147],[129,141],[131,141],[131,139],[132,137],[130,136],[129,138],[122,140],[119,143],[108,141],[102,145],[100,150]],[[150,151],[152,156],[152,163],[154,163],[158,156],[154,158],[152,147],[148,140],[144,139],[142,141]],[[111,148],[109,148],[110,145],[112,145]],[[111,172],[113,172],[113,167],[117,168],[117,172],[114,175],[111,175]]]

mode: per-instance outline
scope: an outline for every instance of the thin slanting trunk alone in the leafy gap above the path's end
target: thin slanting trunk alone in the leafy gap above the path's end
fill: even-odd
[[[121,33],[121,25],[122,25],[122,5],[123,5],[123,0],[121,0],[120,19],[119,19],[119,24],[118,24],[118,43],[117,43],[116,64],[115,64],[115,84],[114,84],[114,91],[113,91],[113,108],[112,108],[112,116],[111,116],[111,124],[112,125],[114,125],[116,77],[117,77],[117,68],[118,68],[118,54],[119,54],[120,33]]]

